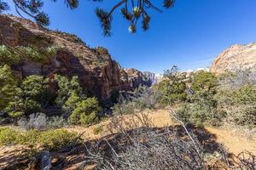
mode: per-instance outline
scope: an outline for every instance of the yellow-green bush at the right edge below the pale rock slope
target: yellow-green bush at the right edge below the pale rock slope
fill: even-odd
[[[256,86],[222,87],[216,94],[218,105],[228,113],[227,122],[240,126],[256,127]]]

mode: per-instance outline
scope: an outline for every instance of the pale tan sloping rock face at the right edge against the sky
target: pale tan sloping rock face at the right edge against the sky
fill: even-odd
[[[210,71],[219,74],[234,68],[248,68],[256,65],[256,42],[247,45],[233,45],[224,50],[213,61]]]

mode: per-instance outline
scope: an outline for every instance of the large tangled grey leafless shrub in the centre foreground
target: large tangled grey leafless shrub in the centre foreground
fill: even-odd
[[[129,118],[115,116],[110,123],[114,138],[100,139],[87,148],[84,166],[96,169],[202,169],[203,151],[193,134],[181,135],[175,129],[156,128],[147,114]],[[102,150],[105,147],[105,150]]]

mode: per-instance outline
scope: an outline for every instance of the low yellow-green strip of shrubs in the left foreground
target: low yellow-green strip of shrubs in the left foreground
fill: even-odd
[[[15,131],[9,127],[0,128],[0,144],[41,145],[46,150],[59,150],[77,141],[77,133],[70,133],[64,129],[47,131],[30,130],[25,133]]]

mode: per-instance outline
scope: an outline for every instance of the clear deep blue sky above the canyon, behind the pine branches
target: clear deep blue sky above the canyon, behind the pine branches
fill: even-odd
[[[176,0],[175,7],[163,14],[149,10],[150,29],[136,34],[129,33],[129,23],[117,10],[112,37],[102,36],[94,10],[110,9],[117,0],[80,0],[75,10],[66,8],[63,0],[45,2],[49,28],[76,34],[90,47],[108,48],[125,68],[160,73],[172,65],[183,71],[207,67],[224,48],[256,42],[255,0]],[[161,5],[162,0],[152,2]],[[13,6],[9,13],[15,14]]]

